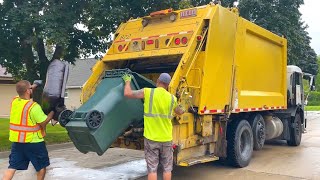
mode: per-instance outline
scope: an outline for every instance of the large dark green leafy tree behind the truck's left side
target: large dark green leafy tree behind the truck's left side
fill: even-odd
[[[16,79],[44,80],[53,59],[74,62],[80,55],[105,52],[121,22],[159,9],[178,9],[182,1],[4,0],[0,64]]]

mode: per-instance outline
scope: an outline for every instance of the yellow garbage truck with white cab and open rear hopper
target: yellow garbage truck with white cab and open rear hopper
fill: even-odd
[[[169,92],[186,109],[172,120],[176,165],[223,158],[245,167],[266,140],[301,142],[303,72],[287,66],[284,37],[243,19],[235,8],[166,9],[122,23],[83,87],[83,103],[115,69],[152,81],[162,72],[172,75]],[[91,115],[89,124],[102,117]],[[142,132],[143,125],[129,125],[112,147],[143,149]]]

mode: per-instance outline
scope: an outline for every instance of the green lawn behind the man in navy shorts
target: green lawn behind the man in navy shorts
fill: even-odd
[[[52,126],[47,125],[46,144],[58,144],[69,142],[70,138],[65,128],[59,124]],[[10,150],[11,142],[9,141],[9,120],[0,118],[0,151]]]

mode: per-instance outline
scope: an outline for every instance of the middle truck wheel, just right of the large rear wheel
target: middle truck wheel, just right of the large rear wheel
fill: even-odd
[[[260,114],[255,114],[249,119],[253,134],[253,149],[261,150],[266,140],[266,124]]]

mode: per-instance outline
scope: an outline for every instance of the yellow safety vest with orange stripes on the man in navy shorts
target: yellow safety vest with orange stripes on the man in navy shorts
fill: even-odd
[[[30,118],[30,110],[35,105],[32,100],[25,100],[15,97],[11,103],[10,110],[10,131],[11,142],[28,143],[34,135],[43,138],[45,132],[39,124]]]

